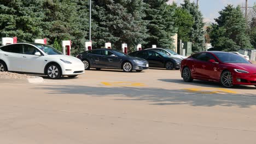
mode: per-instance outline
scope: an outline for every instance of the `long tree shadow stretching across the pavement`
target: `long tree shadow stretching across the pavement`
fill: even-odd
[[[179,105],[193,106],[238,106],[250,107],[256,105],[256,95],[252,94],[206,94],[188,92],[185,89],[170,90],[145,87],[90,87],[79,85],[42,86],[34,89],[46,89],[48,94],[79,94],[93,97],[117,97],[115,100],[143,100],[151,105]],[[75,95],[73,95],[75,98]]]

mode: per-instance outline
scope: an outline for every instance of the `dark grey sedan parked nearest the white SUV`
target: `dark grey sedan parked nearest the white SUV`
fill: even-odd
[[[132,57],[113,49],[85,51],[77,55],[77,58],[81,59],[86,70],[104,68],[123,69],[126,72],[131,72],[132,70],[142,71],[148,69],[148,62],[145,59]]]

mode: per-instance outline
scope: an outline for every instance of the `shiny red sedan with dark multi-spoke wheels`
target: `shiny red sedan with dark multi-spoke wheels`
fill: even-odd
[[[181,76],[185,82],[197,79],[220,82],[224,87],[256,86],[256,65],[235,53],[199,52],[182,60]]]

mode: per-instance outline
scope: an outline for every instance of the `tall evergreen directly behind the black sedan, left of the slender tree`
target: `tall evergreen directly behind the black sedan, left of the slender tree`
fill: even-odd
[[[144,0],[148,4],[145,20],[149,21],[146,47],[173,48],[172,36],[177,32],[174,28],[175,9],[167,5],[168,0]]]

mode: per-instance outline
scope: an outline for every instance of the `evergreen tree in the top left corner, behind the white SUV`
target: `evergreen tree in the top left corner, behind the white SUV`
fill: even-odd
[[[43,35],[42,1],[1,1],[0,37],[18,37],[18,41],[33,41]]]

